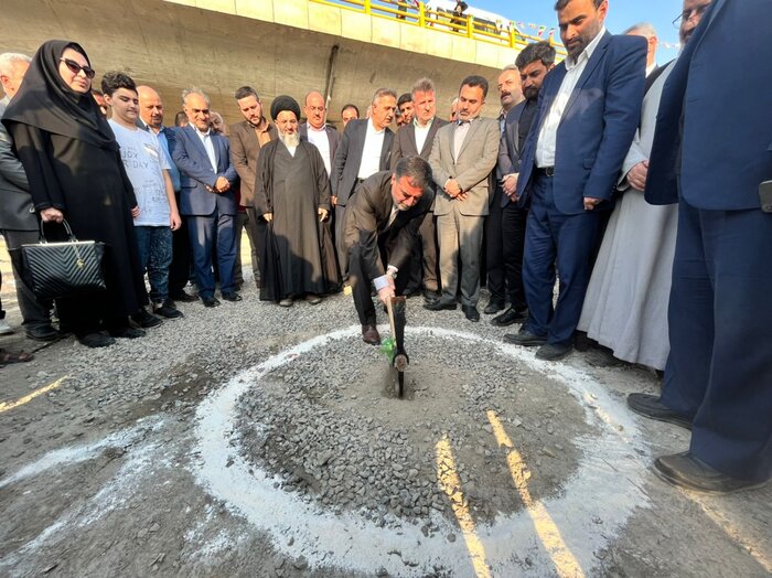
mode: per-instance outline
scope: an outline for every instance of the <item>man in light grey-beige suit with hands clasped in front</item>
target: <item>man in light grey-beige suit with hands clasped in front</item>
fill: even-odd
[[[461,309],[480,321],[480,253],[489,213],[489,176],[498,159],[498,121],[480,118],[487,81],[468,76],[459,90],[458,120],[435,137],[429,164],[438,186],[435,204],[440,244],[442,297],[423,307],[431,311],[455,309],[461,256]]]

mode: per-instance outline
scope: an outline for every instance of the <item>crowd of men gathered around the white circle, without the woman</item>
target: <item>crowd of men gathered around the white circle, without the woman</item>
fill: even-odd
[[[763,483],[772,477],[772,126],[755,113],[771,109],[772,55],[752,31],[772,9],[684,0],[683,54],[658,67],[653,28],[610,34],[607,0],[555,8],[568,56],[557,64],[548,42],[526,46],[498,76],[497,118],[481,116],[489,83],[471,75],[447,120],[435,84],[420,78],[401,96],[376,90],[365,118],[343,107],[342,133],[326,124],[321,93],[309,92],[302,111],[275,98],[269,119],[249,86],[235,92],[244,120],[229,129],[196,88],[167,128],[156,90],[105,75],[125,163],[148,139],[164,151],[142,196],[157,207],[140,202],[135,215],[148,228],[138,236],[153,312],[180,317],[174,301],[196,299],[183,289],[191,270],[205,307],[219,304],[217,282],[223,299],[239,301],[242,231],[265,298],[315,304],[350,286],[371,344],[380,342],[374,295],[387,303],[422,293],[431,311],[460,302],[479,322],[486,282],[483,313],[495,327],[518,323],[502,339],[538,347],[538,358],[568,355],[579,331],[585,347],[664,371],[661,396],[629,398],[634,411],[693,430],[689,451],[656,461],[664,479],[719,492]],[[747,26],[742,39],[726,31],[731,22]],[[741,72],[751,52],[762,69]],[[6,103],[23,68],[18,55],[0,57]],[[723,76],[732,71],[736,84]],[[732,90],[726,106],[721,85],[748,83],[744,100]],[[10,199],[6,190],[24,185],[8,169],[11,143],[0,143]],[[129,176],[136,189],[147,183]],[[9,247],[29,242],[7,206]],[[50,304],[17,286],[28,334],[57,336]],[[150,318],[136,321],[150,327]]]

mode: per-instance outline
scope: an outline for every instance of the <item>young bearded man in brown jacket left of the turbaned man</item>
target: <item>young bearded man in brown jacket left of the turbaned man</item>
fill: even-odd
[[[230,162],[242,180],[239,188],[243,213],[236,216],[236,260],[240,265],[242,229],[247,231],[251,247],[251,271],[257,286],[260,286],[260,251],[266,235],[266,222],[255,211],[255,173],[260,159],[260,149],[277,132],[274,125],[262,114],[262,103],[251,86],[242,86],[234,94],[238,110],[244,120],[230,125]]]

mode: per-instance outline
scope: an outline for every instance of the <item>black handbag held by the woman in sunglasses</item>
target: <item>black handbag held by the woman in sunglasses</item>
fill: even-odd
[[[69,240],[49,243],[40,224],[40,243],[21,246],[22,277],[39,299],[61,299],[104,291],[105,244],[78,240],[63,221]]]

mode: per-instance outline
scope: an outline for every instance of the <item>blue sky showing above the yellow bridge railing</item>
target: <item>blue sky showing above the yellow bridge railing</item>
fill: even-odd
[[[557,28],[557,17],[553,7],[554,0],[467,0],[470,7],[482,8],[496,12],[507,20],[547,26],[547,30]],[[628,26],[647,21],[656,28],[661,41],[657,50],[657,62],[664,64],[674,58],[678,51],[665,49],[662,43],[676,44],[678,31],[672,22],[682,10],[683,0],[609,0],[609,15],[605,25],[611,32],[622,32]],[[524,32],[529,33],[526,29]],[[556,39],[559,34],[556,31]]]

